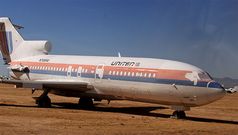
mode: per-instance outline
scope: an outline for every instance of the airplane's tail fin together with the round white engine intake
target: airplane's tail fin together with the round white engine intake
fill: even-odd
[[[48,41],[24,40],[17,28],[22,27],[13,25],[7,17],[0,18],[0,49],[5,64],[25,57],[46,55],[51,50]]]

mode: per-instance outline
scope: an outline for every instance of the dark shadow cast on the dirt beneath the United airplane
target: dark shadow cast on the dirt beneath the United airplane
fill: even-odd
[[[170,118],[171,115],[161,114],[151,112],[157,109],[168,109],[168,107],[162,106],[151,106],[151,107],[105,107],[105,106],[97,106],[100,103],[95,104],[94,107],[80,107],[76,103],[52,103],[52,108],[54,109],[77,109],[77,110],[87,110],[87,111],[99,111],[99,112],[113,112],[113,113],[124,113],[124,114],[133,114],[140,116],[150,116],[150,117],[159,117],[159,118]],[[0,104],[1,106],[9,106],[9,107],[26,107],[26,108],[38,108],[34,105],[15,105],[15,104]],[[238,121],[231,120],[221,120],[221,119],[213,119],[213,118],[200,118],[200,117],[191,117],[188,116],[184,120],[195,121],[195,122],[209,122],[209,123],[223,123],[223,124],[235,124],[238,125]]]

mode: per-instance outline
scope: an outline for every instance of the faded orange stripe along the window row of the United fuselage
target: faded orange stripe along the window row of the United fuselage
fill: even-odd
[[[83,69],[87,69],[90,71],[95,71],[96,65],[80,65],[80,64],[60,64],[60,63],[49,63],[49,62],[27,62],[27,61],[15,61],[11,62],[10,65],[21,64],[24,66],[44,66],[44,67],[53,67],[53,68],[68,68],[72,66],[72,69],[78,69],[78,67],[82,67]],[[157,79],[172,79],[172,80],[188,80],[185,78],[187,73],[191,73],[192,71],[183,71],[183,70],[169,70],[169,69],[152,69],[152,68],[136,68],[136,67],[119,67],[119,66],[104,66],[104,74],[108,75],[109,72],[134,72],[144,74],[155,74],[155,78]],[[95,72],[94,72],[95,73]],[[142,77],[143,77],[142,76]]]

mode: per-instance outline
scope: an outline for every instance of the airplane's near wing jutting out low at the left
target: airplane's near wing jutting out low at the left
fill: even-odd
[[[85,92],[94,89],[88,82],[73,80],[2,80],[2,83],[14,84],[16,88],[35,88],[49,90],[77,90]]]

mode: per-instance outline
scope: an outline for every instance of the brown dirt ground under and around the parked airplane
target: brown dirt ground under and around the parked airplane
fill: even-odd
[[[0,84],[0,134],[238,135],[238,94],[192,108],[187,120],[169,118],[173,111],[162,105],[102,101],[80,109],[77,98],[50,97],[52,108],[38,108],[31,90]]]

